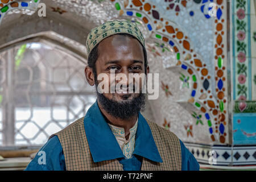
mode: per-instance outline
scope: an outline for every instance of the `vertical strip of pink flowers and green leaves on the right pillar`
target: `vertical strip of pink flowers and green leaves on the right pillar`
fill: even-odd
[[[234,57],[234,100],[250,100],[250,44],[247,0],[236,0],[233,4],[233,57]]]

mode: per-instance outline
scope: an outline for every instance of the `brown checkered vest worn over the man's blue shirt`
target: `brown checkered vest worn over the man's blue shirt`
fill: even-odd
[[[147,120],[147,119],[146,119]],[[181,149],[179,138],[174,133],[148,121],[155,144],[163,163],[143,158],[142,171],[181,170]],[[84,130],[84,117],[73,122],[56,134],[63,148],[66,169],[71,171],[121,171],[122,164],[117,159],[94,163]],[[51,138],[50,137],[50,138]]]

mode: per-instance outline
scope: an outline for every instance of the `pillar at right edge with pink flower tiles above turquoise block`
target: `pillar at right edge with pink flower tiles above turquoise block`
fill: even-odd
[[[256,144],[255,1],[233,1],[233,144]]]

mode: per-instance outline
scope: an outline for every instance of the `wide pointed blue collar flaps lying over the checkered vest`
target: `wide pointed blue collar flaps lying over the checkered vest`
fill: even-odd
[[[105,121],[97,100],[84,117],[86,139],[94,162],[125,158],[108,123]],[[138,126],[133,154],[154,162],[163,162],[156,147],[150,127],[141,113],[138,114]]]

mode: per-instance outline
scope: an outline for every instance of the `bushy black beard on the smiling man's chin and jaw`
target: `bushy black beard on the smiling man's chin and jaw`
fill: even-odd
[[[140,90],[139,96],[133,97],[131,100],[127,100],[128,95],[124,95],[123,101],[115,101],[106,98],[103,93],[99,93],[97,90],[98,81],[96,80],[96,94],[97,100],[100,102],[103,109],[115,118],[129,119],[138,114],[139,111],[143,111],[146,105],[146,94]],[[113,94],[114,96],[114,94]]]

